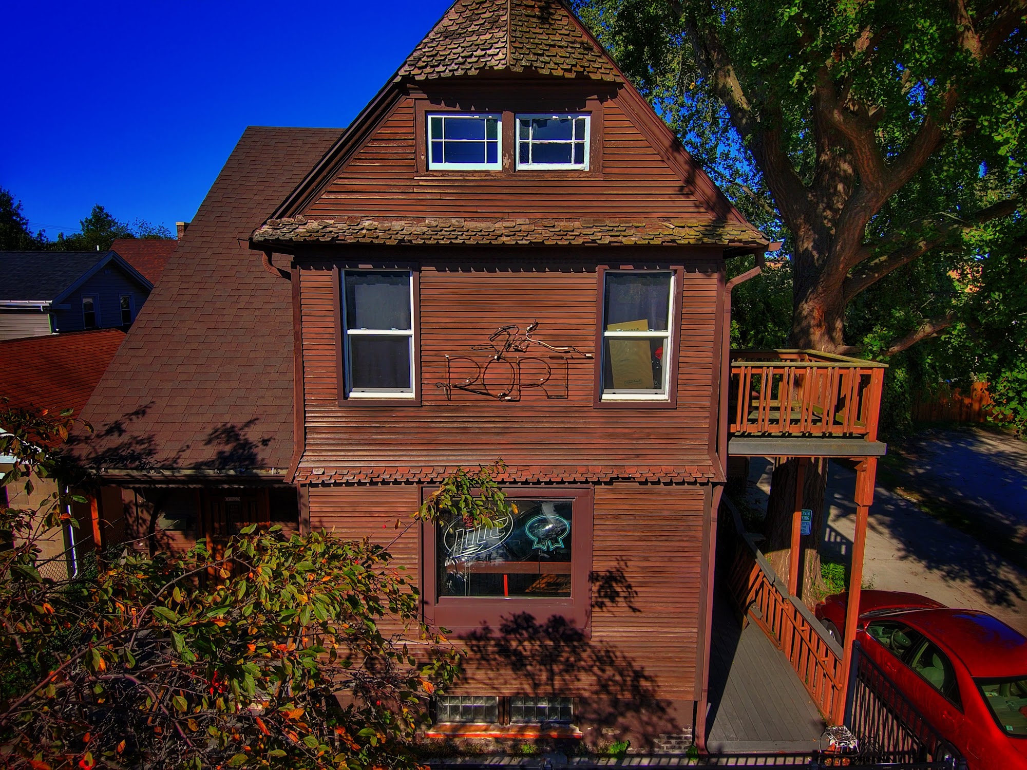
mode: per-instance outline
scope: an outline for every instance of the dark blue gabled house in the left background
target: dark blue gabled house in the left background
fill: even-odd
[[[152,288],[113,251],[0,252],[0,340],[127,328]]]

